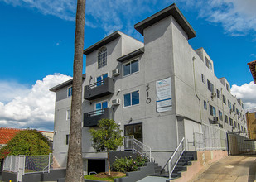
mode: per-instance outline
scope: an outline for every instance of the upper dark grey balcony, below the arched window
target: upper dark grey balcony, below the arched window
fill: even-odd
[[[86,100],[94,100],[106,95],[114,93],[114,79],[109,77],[85,86],[84,98]]]

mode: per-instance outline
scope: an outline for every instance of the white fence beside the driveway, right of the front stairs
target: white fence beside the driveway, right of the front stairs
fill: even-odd
[[[194,146],[196,151],[227,150],[227,131],[202,125],[202,132],[194,132]]]

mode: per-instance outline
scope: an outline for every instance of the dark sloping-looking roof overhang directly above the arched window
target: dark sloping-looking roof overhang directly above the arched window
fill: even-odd
[[[118,38],[120,36],[122,36],[120,31],[114,31],[112,34],[110,34],[109,36],[106,36],[101,41],[98,41],[94,45],[91,45],[87,49],[85,49],[84,54],[89,55],[89,53],[93,52],[94,50],[98,50],[103,45],[106,45],[109,42],[114,41],[116,38]]]

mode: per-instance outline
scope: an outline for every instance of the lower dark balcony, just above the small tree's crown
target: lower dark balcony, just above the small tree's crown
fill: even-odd
[[[84,113],[84,127],[95,127],[99,120],[104,118],[114,119],[114,112],[112,108],[104,108]]]

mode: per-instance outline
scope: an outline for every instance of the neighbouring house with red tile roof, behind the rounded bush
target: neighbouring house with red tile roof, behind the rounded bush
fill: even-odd
[[[17,132],[20,132],[24,129],[11,128],[11,127],[0,127],[0,148],[6,146],[8,141],[10,141]],[[38,131],[41,132],[49,141],[53,141],[53,132],[48,131]]]

